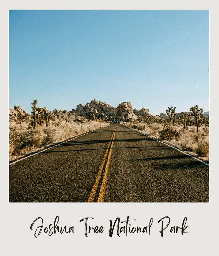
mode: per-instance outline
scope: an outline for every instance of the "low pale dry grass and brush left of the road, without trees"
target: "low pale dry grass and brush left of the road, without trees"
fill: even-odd
[[[60,142],[68,138],[108,126],[110,123],[98,121],[66,122],[63,119],[51,121],[49,125],[36,126],[35,129],[28,124],[10,123],[9,133],[9,159],[13,160],[24,153],[36,151],[43,145]]]

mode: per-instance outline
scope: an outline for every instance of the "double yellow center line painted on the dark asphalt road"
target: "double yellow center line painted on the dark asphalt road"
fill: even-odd
[[[108,152],[110,151],[109,155],[108,155],[108,158],[107,158],[106,168],[105,168],[105,172],[104,172],[104,175],[103,175],[103,181],[102,181],[102,185],[101,185],[101,188],[100,188],[100,193],[99,193],[99,197],[98,197],[97,201],[98,202],[103,202],[103,200],[104,200],[104,195],[105,195],[105,191],[106,191],[106,182],[107,182],[109,168],[110,168],[110,161],[111,161],[111,156],[112,156],[112,149],[113,149],[115,134],[116,134],[116,127],[113,131],[113,134],[112,134],[111,138],[110,138],[110,143],[107,146],[107,151],[106,151],[106,153],[103,157],[103,160],[102,160],[98,175],[96,176],[96,180],[95,180],[93,188],[91,190],[88,202],[93,202],[93,200],[94,200],[96,190],[97,190],[98,185],[99,185],[100,177],[101,177],[101,174],[102,174],[105,162],[106,162],[106,158],[107,158]]]

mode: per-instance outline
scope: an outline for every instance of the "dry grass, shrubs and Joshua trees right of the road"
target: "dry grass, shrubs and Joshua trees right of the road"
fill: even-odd
[[[191,113],[181,113],[178,116],[175,109],[176,107],[168,107],[168,119],[149,115],[146,119],[140,116],[138,120],[123,124],[209,161],[209,118],[202,114],[203,109],[197,105],[190,108]]]

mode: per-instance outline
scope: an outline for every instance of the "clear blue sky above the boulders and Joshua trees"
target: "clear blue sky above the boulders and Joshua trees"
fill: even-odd
[[[209,111],[209,11],[10,11],[9,105]]]

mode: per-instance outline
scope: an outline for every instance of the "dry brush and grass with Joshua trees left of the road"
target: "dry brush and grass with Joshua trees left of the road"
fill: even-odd
[[[66,110],[50,112],[46,108],[37,108],[37,100],[33,101],[32,110],[33,118],[9,123],[9,160],[110,124],[93,115],[86,119]]]

